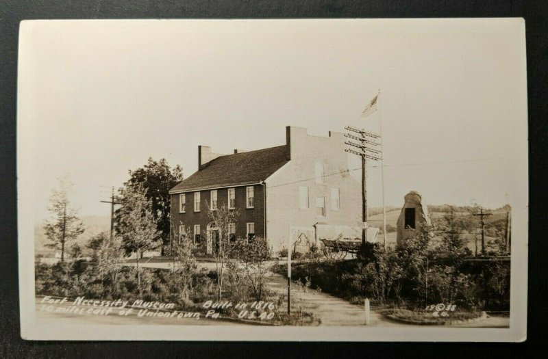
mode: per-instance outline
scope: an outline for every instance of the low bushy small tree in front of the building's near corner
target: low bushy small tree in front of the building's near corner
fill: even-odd
[[[251,243],[240,239],[234,247],[234,257],[241,264],[255,299],[263,300],[266,278],[272,267],[272,251],[266,239],[256,238]]]

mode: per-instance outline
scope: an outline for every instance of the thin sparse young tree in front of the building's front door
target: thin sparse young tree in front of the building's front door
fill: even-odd
[[[215,223],[219,231],[219,239],[213,245],[213,254],[215,256],[215,269],[217,274],[217,300],[221,300],[223,290],[223,270],[225,263],[230,260],[233,245],[230,243],[230,227],[236,224],[236,219],[240,215],[238,209],[229,209],[225,204],[216,209],[211,209],[208,202],[208,216]]]

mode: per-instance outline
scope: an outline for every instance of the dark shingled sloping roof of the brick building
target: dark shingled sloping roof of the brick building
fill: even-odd
[[[217,157],[179,182],[170,193],[258,183],[287,162],[285,145]]]

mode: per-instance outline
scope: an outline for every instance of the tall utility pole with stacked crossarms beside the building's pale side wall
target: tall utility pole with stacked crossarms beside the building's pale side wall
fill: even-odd
[[[362,247],[364,247],[367,237],[366,159],[371,159],[373,161],[382,160],[382,150],[379,148],[381,144],[375,142],[375,139],[379,139],[381,136],[376,133],[355,129],[349,126],[345,127],[345,130],[356,133],[356,135],[352,135],[351,133],[345,133],[345,137],[359,141],[358,143],[346,141],[345,144],[350,147],[345,149],[345,151],[353,153],[354,155],[358,155],[362,159]]]

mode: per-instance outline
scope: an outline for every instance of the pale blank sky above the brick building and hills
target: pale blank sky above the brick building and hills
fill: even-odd
[[[285,144],[288,125],[382,122],[386,205],[416,190],[427,204],[500,207],[527,194],[524,39],[520,19],[26,23],[19,191],[40,222],[68,176],[81,215],[110,215],[100,201],[149,157],[190,176],[199,145],[228,154]]]

